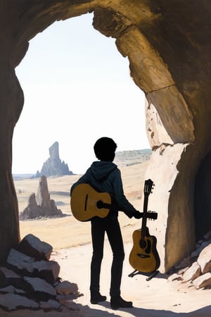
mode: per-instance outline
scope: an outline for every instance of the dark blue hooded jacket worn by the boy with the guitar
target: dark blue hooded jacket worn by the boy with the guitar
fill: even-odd
[[[87,172],[72,185],[70,196],[74,187],[81,183],[91,185],[98,192],[108,192],[115,198],[119,210],[124,211],[129,218],[134,216],[136,209],[124,196],[121,173],[115,163],[108,161],[96,161],[92,163]]]

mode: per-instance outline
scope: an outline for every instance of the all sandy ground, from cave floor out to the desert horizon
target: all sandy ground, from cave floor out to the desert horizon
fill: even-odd
[[[148,161],[134,163],[117,161],[122,173],[124,193],[136,209],[142,210],[140,199],[143,192],[144,173]],[[132,309],[110,309],[109,283],[110,263],[112,254],[106,240],[101,271],[101,293],[107,296],[107,301],[93,305],[89,302],[89,264],[91,261],[90,223],[79,222],[70,211],[70,187],[79,175],[48,178],[51,199],[56,201],[59,209],[65,214],[62,218],[20,221],[21,238],[32,233],[40,240],[48,242],[53,247],[51,259],[60,265],[60,278],[75,283],[80,296],[68,299],[63,303],[61,311],[31,311],[18,309],[4,311],[0,316],[17,317],[208,317],[211,316],[210,290],[196,290],[195,287],[181,281],[168,280],[168,275],[158,273],[147,281],[146,275],[137,274],[133,278],[129,274],[134,269],[129,265],[129,252],[132,249],[132,232],[141,227],[140,220],[129,219],[120,213],[120,225],[125,247],[125,260],[122,276],[122,297],[131,300]],[[23,211],[30,194],[37,193],[39,179],[15,180],[18,195],[19,210]]]

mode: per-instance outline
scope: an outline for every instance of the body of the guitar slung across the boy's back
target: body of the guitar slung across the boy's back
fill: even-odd
[[[71,195],[70,206],[73,216],[79,221],[88,221],[95,216],[105,218],[109,208],[98,208],[98,202],[111,204],[110,194],[96,192],[89,184],[77,185]]]

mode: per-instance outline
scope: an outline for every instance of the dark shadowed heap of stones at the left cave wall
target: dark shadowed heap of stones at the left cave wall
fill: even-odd
[[[50,260],[51,251],[50,244],[34,235],[25,236],[17,249],[11,249],[0,267],[1,309],[61,311],[67,302],[72,309],[72,299],[82,294],[75,283],[59,278],[60,266]]]

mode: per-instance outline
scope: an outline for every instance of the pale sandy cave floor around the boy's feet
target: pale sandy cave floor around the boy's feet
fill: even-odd
[[[17,317],[210,317],[210,290],[196,290],[181,282],[169,282],[165,275],[158,273],[155,278],[146,281],[146,276],[135,275],[129,278],[133,268],[129,265],[128,256],[132,249],[130,242],[125,244],[125,260],[122,277],[122,297],[132,300],[132,309],[110,309],[109,285],[110,263],[112,254],[106,240],[103,265],[101,269],[101,293],[107,301],[92,305],[89,302],[89,264],[91,261],[91,244],[53,251],[51,259],[60,264],[60,277],[75,283],[83,295],[67,301],[63,311],[1,311],[0,316]]]

